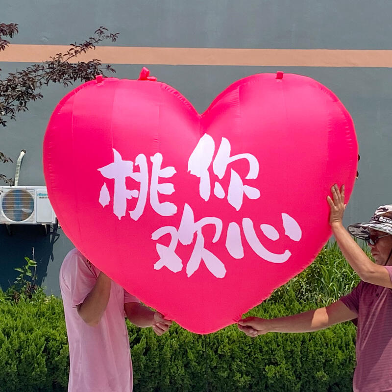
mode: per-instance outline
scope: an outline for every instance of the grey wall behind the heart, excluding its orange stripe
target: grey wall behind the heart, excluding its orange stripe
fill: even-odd
[[[82,41],[100,25],[120,32],[114,45],[187,48],[392,49],[392,3],[384,0],[160,0],[59,1],[0,0],[0,23],[18,23],[15,44],[66,45]],[[105,43],[105,45],[111,45]],[[25,63],[1,62],[1,75]],[[148,64],[146,64],[148,66]],[[140,65],[114,65],[117,77],[137,78]],[[346,223],[368,220],[372,211],[392,203],[389,156],[392,150],[392,72],[388,68],[148,66],[151,73],[189,98],[202,112],[233,81],[252,73],[282,70],[317,79],[351,113],[360,146],[360,177]],[[20,185],[43,185],[42,138],[51,111],[67,92],[52,85],[44,99],[29,106],[16,122],[0,129],[0,150],[17,158],[27,150]],[[13,176],[14,165],[0,172]],[[47,291],[59,294],[58,271],[72,248],[65,235],[45,237],[37,226],[0,225],[0,285],[13,281],[17,266],[34,247],[38,274]]]

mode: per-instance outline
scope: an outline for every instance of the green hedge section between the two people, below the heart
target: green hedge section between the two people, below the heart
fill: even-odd
[[[271,318],[314,308],[295,300],[262,304],[252,315]],[[251,339],[236,326],[207,336],[175,325],[156,337],[137,331],[132,346],[135,391],[352,391],[355,327],[344,323],[303,334],[271,333]]]

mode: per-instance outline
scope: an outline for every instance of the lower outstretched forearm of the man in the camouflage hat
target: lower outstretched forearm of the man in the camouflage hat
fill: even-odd
[[[293,316],[266,320],[270,332],[313,332],[332,325],[327,309],[319,308]]]

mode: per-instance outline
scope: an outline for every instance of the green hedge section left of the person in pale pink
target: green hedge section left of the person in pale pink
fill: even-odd
[[[12,303],[0,292],[0,391],[65,391],[69,360],[62,302]]]

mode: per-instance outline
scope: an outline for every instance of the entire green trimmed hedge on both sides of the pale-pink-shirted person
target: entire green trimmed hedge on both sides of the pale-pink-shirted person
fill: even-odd
[[[251,314],[294,314],[315,304],[294,292]],[[66,391],[69,358],[61,300],[15,304],[0,292],[0,392]],[[355,328],[351,323],[304,334],[246,337],[236,326],[199,336],[173,325],[157,337],[128,323],[134,391],[351,391]]]

